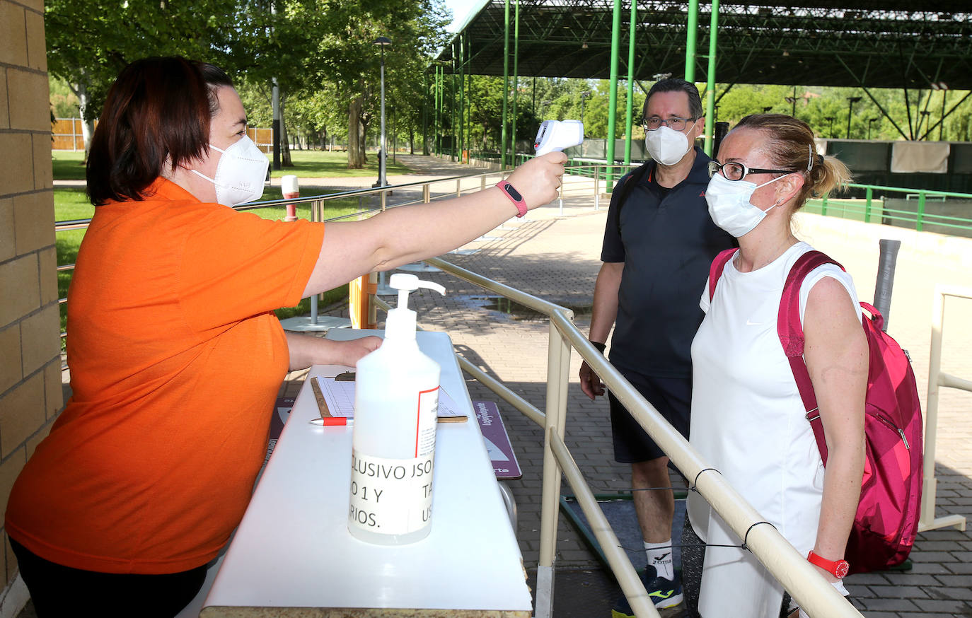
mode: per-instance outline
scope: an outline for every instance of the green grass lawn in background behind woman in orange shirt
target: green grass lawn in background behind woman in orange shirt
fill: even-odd
[[[54,180],[84,180],[85,167],[81,163],[83,157],[84,153],[55,151],[52,154]],[[298,167],[295,169],[287,168],[279,174],[274,172],[273,176],[278,177],[283,174],[296,173],[305,178],[313,178],[328,176],[353,177],[373,174],[377,178],[377,157],[372,155],[370,158],[371,169],[349,170],[347,169],[347,154],[345,153],[295,152],[294,161]],[[405,173],[408,171],[408,168],[401,165],[393,166],[390,164],[388,168],[388,173],[390,174]],[[94,206],[87,201],[84,188],[57,187],[53,189],[53,193],[55,221],[63,222],[90,219],[94,215]],[[366,208],[367,204],[364,206]],[[287,215],[286,210],[285,206],[277,206],[260,208],[249,212],[263,219],[280,220]],[[356,213],[358,210],[358,198],[331,200],[325,208],[324,218],[333,219],[342,215]],[[297,206],[297,217],[309,219],[310,206],[308,204],[299,204]],[[75,262],[78,257],[78,248],[81,246],[81,241],[84,236],[84,229],[57,232],[55,242],[58,265],[73,264]],[[71,283],[71,273],[71,270],[64,270],[57,273],[57,292],[60,298],[67,296],[67,289]],[[333,302],[347,298],[347,296],[348,287],[346,285],[331,290],[330,292],[325,292],[324,298],[321,301],[321,307],[327,307]],[[61,330],[63,330],[67,322],[66,305],[61,305],[60,313]],[[281,319],[307,315],[310,313],[310,300],[305,298],[296,307],[278,309],[276,313]]]

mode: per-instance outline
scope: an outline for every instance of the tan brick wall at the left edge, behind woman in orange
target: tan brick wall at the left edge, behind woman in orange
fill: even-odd
[[[0,0],[0,513],[63,405],[46,53],[43,0]]]

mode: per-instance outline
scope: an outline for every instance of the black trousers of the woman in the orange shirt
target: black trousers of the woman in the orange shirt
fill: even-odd
[[[100,573],[61,566],[10,539],[38,618],[97,615],[171,618],[202,588],[206,565],[181,573]]]

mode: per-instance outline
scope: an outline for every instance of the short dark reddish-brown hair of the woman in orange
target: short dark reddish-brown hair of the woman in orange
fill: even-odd
[[[87,154],[87,196],[95,206],[140,200],[162,173],[209,151],[215,89],[232,86],[219,67],[182,57],[136,60],[121,69]]]

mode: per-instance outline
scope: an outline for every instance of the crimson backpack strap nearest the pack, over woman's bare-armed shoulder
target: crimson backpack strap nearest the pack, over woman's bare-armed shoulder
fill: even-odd
[[[820,413],[816,405],[814,385],[810,380],[807,363],[803,360],[805,339],[803,325],[800,323],[800,287],[807,275],[823,264],[836,264],[842,270],[844,269],[844,266],[841,266],[840,263],[818,251],[807,252],[794,262],[786,276],[786,283],[783,285],[780,313],[777,317],[777,333],[780,335],[783,354],[786,355],[786,360],[789,360],[790,369],[793,371],[793,379],[796,380],[800,398],[803,399],[804,409],[807,411],[807,420],[810,421],[810,426],[814,429],[820,459],[826,465],[827,442],[823,436],[823,422],[820,421]]]

